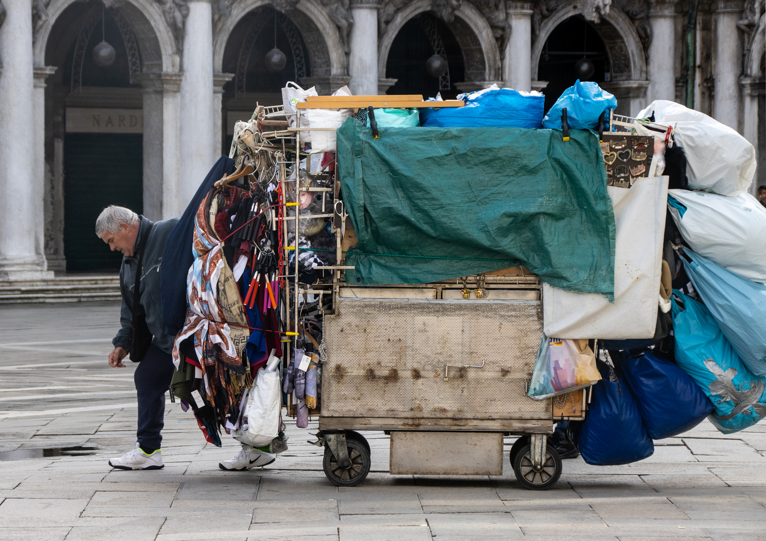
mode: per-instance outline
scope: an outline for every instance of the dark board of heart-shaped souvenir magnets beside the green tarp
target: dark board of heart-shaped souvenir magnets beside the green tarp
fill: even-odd
[[[653,137],[604,133],[601,153],[607,167],[607,186],[631,187],[637,178],[646,177],[653,152]]]

